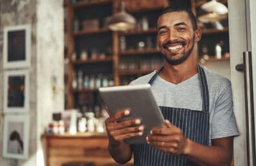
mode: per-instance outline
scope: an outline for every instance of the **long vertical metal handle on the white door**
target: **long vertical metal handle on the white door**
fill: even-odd
[[[244,64],[244,92],[246,104],[246,139],[247,139],[247,160],[248,166],[254,166],[255,158],[255,125],[254,125],[254,109],[253,109],[253,80],[251,66],[251,52],[243,53]],[[238,66],[238,67],[237,67]],[[241,65],[237,65],[236,69],[240,69]],[[237,70],[238,70],[237,69]],[[239,70],[238,70],[239,71]]]

